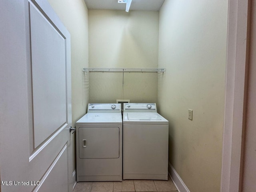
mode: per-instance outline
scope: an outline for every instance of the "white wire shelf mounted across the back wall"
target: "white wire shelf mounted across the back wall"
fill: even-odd
[[[165,72],[165,68],[83,68],[83,72]]]

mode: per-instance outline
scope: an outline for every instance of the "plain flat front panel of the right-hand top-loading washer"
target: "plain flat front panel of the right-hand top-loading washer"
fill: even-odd
[[[123,179],[168,180],[168,125],[123,125]]]

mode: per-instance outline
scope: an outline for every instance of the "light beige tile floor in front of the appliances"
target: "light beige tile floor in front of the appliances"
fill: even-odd
[[[77,182],[73,192],[171,192],[178,191],[172,180],[123,180],[108,182]]]

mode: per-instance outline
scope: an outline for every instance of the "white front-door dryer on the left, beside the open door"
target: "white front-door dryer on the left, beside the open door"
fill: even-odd
[[[88,104],[76,122],[76,180],[122,181],[121,104]]]

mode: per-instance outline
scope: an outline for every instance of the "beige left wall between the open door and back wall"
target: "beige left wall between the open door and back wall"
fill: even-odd
[[[82,72],[88,67],[88,9],[84,0],[48,0],[71,36],[72,127],[86,113],[88,80]],[[73,134],[73,170],[76,165],[75,136]]]

